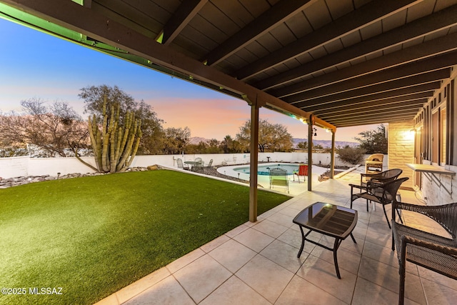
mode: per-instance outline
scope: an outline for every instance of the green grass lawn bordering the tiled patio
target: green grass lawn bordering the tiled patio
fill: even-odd
[[[258,191],[258,214],[287,199]],[[0,286],[23,294],[0,304],[93,304],[248,221],[248,200],[246,186],[166,170],[2,189]]]

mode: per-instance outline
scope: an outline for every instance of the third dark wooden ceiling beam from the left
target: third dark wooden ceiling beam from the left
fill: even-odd
[[[245,66],[243,69],[236,71],[234,74],[238,79],[247,79],[248,77],[258,74],[261,71],[270,69],[272,66],[288,61],[293,57],[300,54],[307,53],[318,46],[323,46],[329,41],[338,39],[345,35],[358,31],[362,26],[376,22],[384,16],[389,16],[399,9],[404,9],[411,4],[414,0],[401,0],[401,1],[383,1],[375,0],[361,6],[360,9],[346,14],[345,16],[336,19],[331,24],[321,27],[310,34],[301,37],[292,44],[288,44],[285,48],[271,53],[268,56],[259,59],[258,61]]]

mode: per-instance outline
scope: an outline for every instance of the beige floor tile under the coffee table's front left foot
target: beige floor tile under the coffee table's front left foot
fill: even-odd
[[[269,244],[260,254],[293,273],[298,271],[308,257],[308,254],[303,252],[300,258],[297,258],[298,250],[295,247],[278,240]]]

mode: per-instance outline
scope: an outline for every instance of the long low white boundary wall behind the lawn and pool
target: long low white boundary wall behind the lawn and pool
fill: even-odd
[[[147,167],[149,165],[159,164],[167,167],[177,167],[176,159],[183,161],[194,161],[200,157],[205,164],[213,159],[213,166],[233,165],[249,163],[249,154],[176,154],[176,155],[153,155],[153,156],[136,156],[131,167]],[[368,157],[368,155],[366,155]],[[82,157],[84,161],[95,166],[94,157]],[[308,153],[306,152],[268,152],[258,153],[259,162],[289,162],[289,163],[308,163]],[[313,164],[328,166],[330,164],[330,154],[314,153]],[[362,162],[364,164],[364,162]],[[384,157],[384,166],[387,166],[388,158]],[[347,164],[335,158],[336,166],[348,166]],[[0,178],[8,179],[19,176],[57,176],[66,174],[86,174],[94,173],[89,166],[84,165],[76,158],[30,158],[29,156],[17,156],[11,158],[0,158]]]

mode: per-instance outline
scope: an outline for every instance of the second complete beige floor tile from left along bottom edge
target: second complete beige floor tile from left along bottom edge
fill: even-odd
[[[241,281],[274,303],[291,281],[293,273],[261,255],[255,256],[235,274]]]

